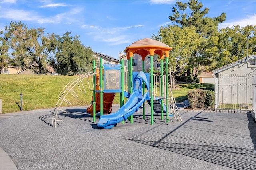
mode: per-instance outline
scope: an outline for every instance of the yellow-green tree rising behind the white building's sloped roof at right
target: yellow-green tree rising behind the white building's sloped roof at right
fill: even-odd
[[[215,56],[215,68],[219,68],[238,59],[245,58],[247,56],[247,38],[248,55],[256,54],[255,33],[255,25],[247,25],[243,28],[236,25],[221,29],[217,45],[218,54]]]

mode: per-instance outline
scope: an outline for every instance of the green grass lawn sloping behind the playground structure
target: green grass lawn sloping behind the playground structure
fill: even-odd
[[[20,111],[20,94],[22,97],[22,109],[25,111],[35,109],[54,108],[58,101],[60,91],[73,80],[74,76],[49,76],[49,75],[0,75],[0,98],[2,99],[2,113]],[[91,82],[91,81],[90,81]],[[78,98],[68,94],[66,99],[71,103],[62,103],[64,106],[90,105],[92,91],[88,88],[87,79],[83,81],[86,93],[80,92],[78,86],[74,91]],[[92,88],[92,84],[90,83]],[[173,90],[176,102],[187,99],[187,92],[194,88],[209,89],[214,88],[213,84],[177,84]],[[114,104],[119,103],[119,93],[116,94]]]

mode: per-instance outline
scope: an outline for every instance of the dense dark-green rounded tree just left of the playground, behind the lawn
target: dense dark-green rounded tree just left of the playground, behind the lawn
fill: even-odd
[[[90,47],[85,47],[79,40],[79,36],[70,36],[70,32],[62,37],[57,36],[58,44],[55,58],[51,65],[58,74],[74,75],[92,71],[92,62],[96,58]]]

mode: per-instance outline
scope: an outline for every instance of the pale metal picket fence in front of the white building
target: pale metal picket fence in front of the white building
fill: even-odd
[[[247,113],[253,106],[251,74],[219,74],[215,81],[215,110]]]

